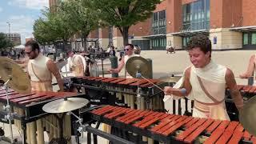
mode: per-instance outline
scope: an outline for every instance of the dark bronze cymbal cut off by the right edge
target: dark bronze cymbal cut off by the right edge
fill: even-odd
[[[250,134],[256,136],[256,96],[250,98],[248,102],[246,102],[240,111],[239,121],[242,123],[242,126],[247,130]]]

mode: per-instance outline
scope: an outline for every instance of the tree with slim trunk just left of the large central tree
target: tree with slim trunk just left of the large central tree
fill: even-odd
[[[78,32],[78,34],[81,34],[82,46],[85,50],[87,36],[90,34],[91,30],[98,28],[99,23],[98,13],[90,9],[89,1],[63,1],[58,6],[58,10],[66,15],[66,22],[70,28]]]

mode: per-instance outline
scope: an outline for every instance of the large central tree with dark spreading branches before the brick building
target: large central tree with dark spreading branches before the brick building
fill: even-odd
[[[84,0],[91,9],[98,11],[102,22],[120,30],[123,44],[128,43],[128,31],[136,22],[142,22],[152,15],[161,0]]]

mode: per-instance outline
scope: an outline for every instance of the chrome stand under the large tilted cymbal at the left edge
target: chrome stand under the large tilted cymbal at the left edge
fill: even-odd
[[[10,77],[4,84],[3,88],[6,90],[6,100],[7,100],[7,105],[4,106],[4,109],[8,112],[8,114],[5,116],[5,119],[9,121],[9,126],[10,126],[10,142],[14,143],[14,134],[13,134],[13,129],[12,129],[12,119],[13,119],[13,113],[10,112],[10,102],[9,102],[9,86],[7,86],[8,82],[10,82],[12,78]]]

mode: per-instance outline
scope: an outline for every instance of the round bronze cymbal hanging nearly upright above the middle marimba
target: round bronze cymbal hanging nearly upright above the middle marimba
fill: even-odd
[[[126,70],[128,74],[136,78],[137,71],[145,78],[150,78],[149,62],[142,57],[131,57],[126,62]]]

